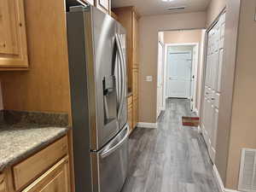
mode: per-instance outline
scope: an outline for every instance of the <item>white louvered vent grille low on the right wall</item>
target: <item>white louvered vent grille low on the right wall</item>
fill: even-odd
[[[256,192],[256,149],[242,148],[238,189]]]

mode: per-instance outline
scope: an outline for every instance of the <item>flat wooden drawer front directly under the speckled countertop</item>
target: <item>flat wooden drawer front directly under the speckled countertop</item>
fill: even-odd
[[[15,189],[19,190],[67,155],[67,136],[13,167]]]

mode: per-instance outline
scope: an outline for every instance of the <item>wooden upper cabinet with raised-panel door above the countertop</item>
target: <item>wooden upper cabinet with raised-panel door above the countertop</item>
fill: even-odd
[[[23,0],[0,1],[0,70],[28,67]]]

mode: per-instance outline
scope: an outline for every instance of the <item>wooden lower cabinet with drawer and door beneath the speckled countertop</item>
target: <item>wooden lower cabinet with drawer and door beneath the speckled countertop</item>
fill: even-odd
[[[67,136],[0,172],[0,192],[71,192]]]

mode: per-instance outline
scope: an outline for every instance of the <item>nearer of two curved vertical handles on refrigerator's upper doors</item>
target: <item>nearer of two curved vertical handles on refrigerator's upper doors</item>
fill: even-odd
[[[122,108],[125,102],[125,61],[124,61],[124,55],[121,47],[121,43],[119,40],[119,35],[115,34],[115,41],[117,44],[118,52],[119,52],[119,59],[120,59],[120,68],[121,68],[121,91],[120,91],[120,103],[119,103],[119,110],[118,110],[118,118],[120,117],[122,113]]]

